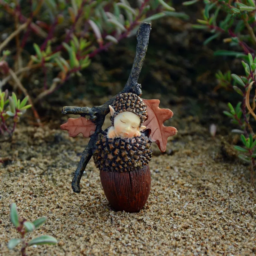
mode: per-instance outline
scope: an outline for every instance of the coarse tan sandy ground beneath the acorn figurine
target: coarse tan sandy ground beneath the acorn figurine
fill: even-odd
[[[19,246],[7,249],[18,237],[9,217],[12,202],[27,220],[48,217],[28,240],[41,234],[58,240],[30,247],[28,255],[256,254],[248,166],[235,160],[220,135],[213,139],[207,129],[194,128],[170,138],[166,154],[153,147],[148,202],[139,213],[126,213],[111,210],[92,159],[82,192],[73,193],[72,172],[88,139],[20,124],[13,141],[0,144],[0,255],[19,255]]]

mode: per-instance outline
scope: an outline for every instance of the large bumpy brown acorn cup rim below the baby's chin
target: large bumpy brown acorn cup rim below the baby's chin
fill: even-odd
[[[142,168],[151,160],[152,150],[148,137],[108,138],[99,133],[93,160],[102,171],[127,172]]]

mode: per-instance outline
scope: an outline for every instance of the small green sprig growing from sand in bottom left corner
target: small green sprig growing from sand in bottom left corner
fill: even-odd
[[[17,206],[15,203],[11,204],[10,207],[10,217],[12,224],[15,226],[17,231],[20,233],[21,238],[13,238],[8,242],[8,248],[12,250],[15,246],[18,244],[22,244],[21,247],[21,255],[25,256],[26,255],[26,248],[31,245],[39,245],[39,244],[56,244],[58,241],[52,237],[52,236],[39,236],[36,238],[33,238],[29,242],[26,242],[26,234],[28,232],[34,231],[36,228],[38,228],[40,225],[42,225],[47,218],[46,217],[41,217],[37,220],[34,220],[33,222],[29,222],[25,219],[19,219],[18,216],[18,211],[17,211]]]

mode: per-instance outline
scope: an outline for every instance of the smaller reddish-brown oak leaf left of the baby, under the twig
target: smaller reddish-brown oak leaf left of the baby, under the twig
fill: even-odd
[[[62,130],[67,130],[70,137],[76,137],[82,133],[85,138],[90,137],[96,129],[96,125],[91,120],[81,116],[79,118],[68,118],[68,122],[61,124]]]

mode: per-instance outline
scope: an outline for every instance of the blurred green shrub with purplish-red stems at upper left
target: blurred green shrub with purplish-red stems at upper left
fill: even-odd
[[[32,105],[56,91],[71,76],[81,76],[80,71],[90,65],[96,54],[134,36],[142,21],[164,16],[188,18],[163,0],[138,0],[135,7],[127,0],[39,0],[31,1],[31,6],[22,2],[0,0],[0,17],[2,12],[11,20],[14,18],[13,32],[0,44],[0,52],[12,39],[16,40],[13,65],[5,62],[7,68],[3,70],[0,88],[7,82],[14,83],[28,96],[22,81],[35,70],[43,73],[42,86],[36,98],[31,99]],[[32,49],[27,47],[31,41]],[[29,54],[24,54],[25,49]],[[55,76],[51,82],[47,79],[49,73]],[[38,119],[36,110],[33,111]]]

